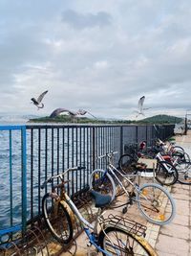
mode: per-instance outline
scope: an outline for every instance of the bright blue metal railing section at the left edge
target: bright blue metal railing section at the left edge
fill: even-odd
[[[13,232],[26,230],[27,225],[27,141],[26,141],[26,127],[25,126],[3,126],[0,127],[0,148],[1,148],[1,166],[0,166],[0,178],[1,180],[1,202],[0,202],[0,216],[1,225],[0,238],[6,235],[6,240],[10,240],[10,236]],[[4,134],[2,134],[2,132]],[[12,136],[16,134],[16,144],[12,143]],[[14,134],[14,135],[15,135]],[[2,149],[2,145],[4,148]],[[14,159],[16,154],[19,155],[17,159],[16,169],[14,168]],[[2,163],[2,160],[4,161]],[[20,175],[16,178],[14,172]],[[6,182],[5,182],[5,180]],[[16,182],[16,184],[15,184]],[[19,184],[20,183],[20,184]],[[18,186],[20,192],[18,192]],[[18,193],[18,194],[17,194]],[[17,202],[15,205],[14,195],[16,195]],[[20,199],[19,199],[20,198]],[[2,205],[1,205],[2,204]],[[3,207],[4,206],[4,207]],[[5,216],[6,210],[7,217]],[[20,209],[19,221],[14,221],[15,208]],[[3,219],[3,220],[2,220]],[[0,240],[4,241],[3,239]],[[4,241],[5,242],[5,241]]]

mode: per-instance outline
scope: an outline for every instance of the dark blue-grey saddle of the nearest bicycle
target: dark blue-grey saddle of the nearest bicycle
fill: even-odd
[[[102,195],[94,190],[90,191],[90,194],[92,198],[95,200],[95,206],[96,208],[102,208],[105,207],[107,204],[109,204],[112,201],[112,197],[109,195]]]

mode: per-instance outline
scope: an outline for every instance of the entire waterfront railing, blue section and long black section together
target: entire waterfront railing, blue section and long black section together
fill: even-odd
[[[0,132],[9,132],[9,164],[4,164],[4,169],[0,168],[0,179],[4,178],[5,172],[9,178],[10,190],[7,201],[2,204],[9,206],[10,214],[7,216],[7,223],[10,226],[0,226],[0,238],[6,233],[17,230],[25,230],[27,224],[34,224],[41,217],[41,199],[45,191],[40,190],[40,184],[50,175],[57,174],[73,166],[85,166],[85,171],[70,173],[68,178],[71,180],[68,192],[71,197],[80,191],[88,188],[89,176],[96,168],[104,168],[103,160],[97,161],[97,156],[108,151],[118,151],[117,160],[124,152],[127,143],[139,143],[146,140],[148,144],[153,143],[153,139],[159,137],[164,140],[173,134],[174,126],[86,126],[86,125],[27,125],[27,126],[8,126],[0,127]],[[13,130],[17,130],[13,134]],[[19,133],[18,133],[19,132]],[[2,136],[3,138],[3,136]],[[1,144],[0,134],[0,161],[1,150],[5,147]],[[12,151],[18,147],[17,151]],[[13,152],[13,154],[12,154]],[[17,160],[19,164],[15,161]],[[0,163],[1,165],[1,163]],[[13,170],[12,167],[17,167]],[[19,168],[20,171],[19,172]],[[2,175],[4,170],[4,175]],[[16,172],[16,173],[15,173]],[[14,176],[12,177],[12,174]],[[15,175],[21,179],[20,188],[22,197],[17,202],[14,201],[15,195],[12,191]],[[16,179],[17,180],[17,179]],[[17,181],[16,181],[17,182]],[[0,185],[1,187],[1,185]],[[8,193],[8,191],[5,191]],[[18,198],[18,197],[17,197]],[[4,197],[5,199],[5,197]],[[0,218],[2,207],[0,202]],[[20,209],[17,213],[15,209]],[[6,213],[6,211],[5,211]],[[4,213],[4,214],[5,214]],[[20,219],[19,216],[20,215]],[[13,225],[13,220],[19,219],[17,225]],[[18,222],[18,221],[17,221]],[[1,223],[1,220],[0,220]],[[0,239],[0,244],[2,240]]]

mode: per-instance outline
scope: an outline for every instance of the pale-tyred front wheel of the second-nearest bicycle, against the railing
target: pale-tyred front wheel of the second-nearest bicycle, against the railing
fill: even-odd
[[[90,189],[98,193],[110,195],[112,200],[116,197],[116,185],[114,179],[107,171],[96,169],[90,175]]]

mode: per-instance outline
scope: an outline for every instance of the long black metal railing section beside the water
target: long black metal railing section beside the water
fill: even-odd
[[[85,171],[68,174],[68,178],[71,180],[68,192],[73,197],[74,194],[88,188],[89,177],[94,169],[105,167],[103,160],[97,161],[98,155],[117,151],[117,164],[119,156],[124,152],[125,144],[139,143],[145,140],[148,145],[151,145],[156,137],[164,140],[172,136],[173,128],[173,125],[26,126],[28,223],[34,223],[41,216],[41,199],[45,192],[51,189],[51,185],[42,191],[40,184],[49,176],[73,166],[86,167]],[[7,175],[9,175],[9,171]],[[11,209],[11,212],[15,212],[14,209]],[[0,213],[0,216],[3,214]]]

